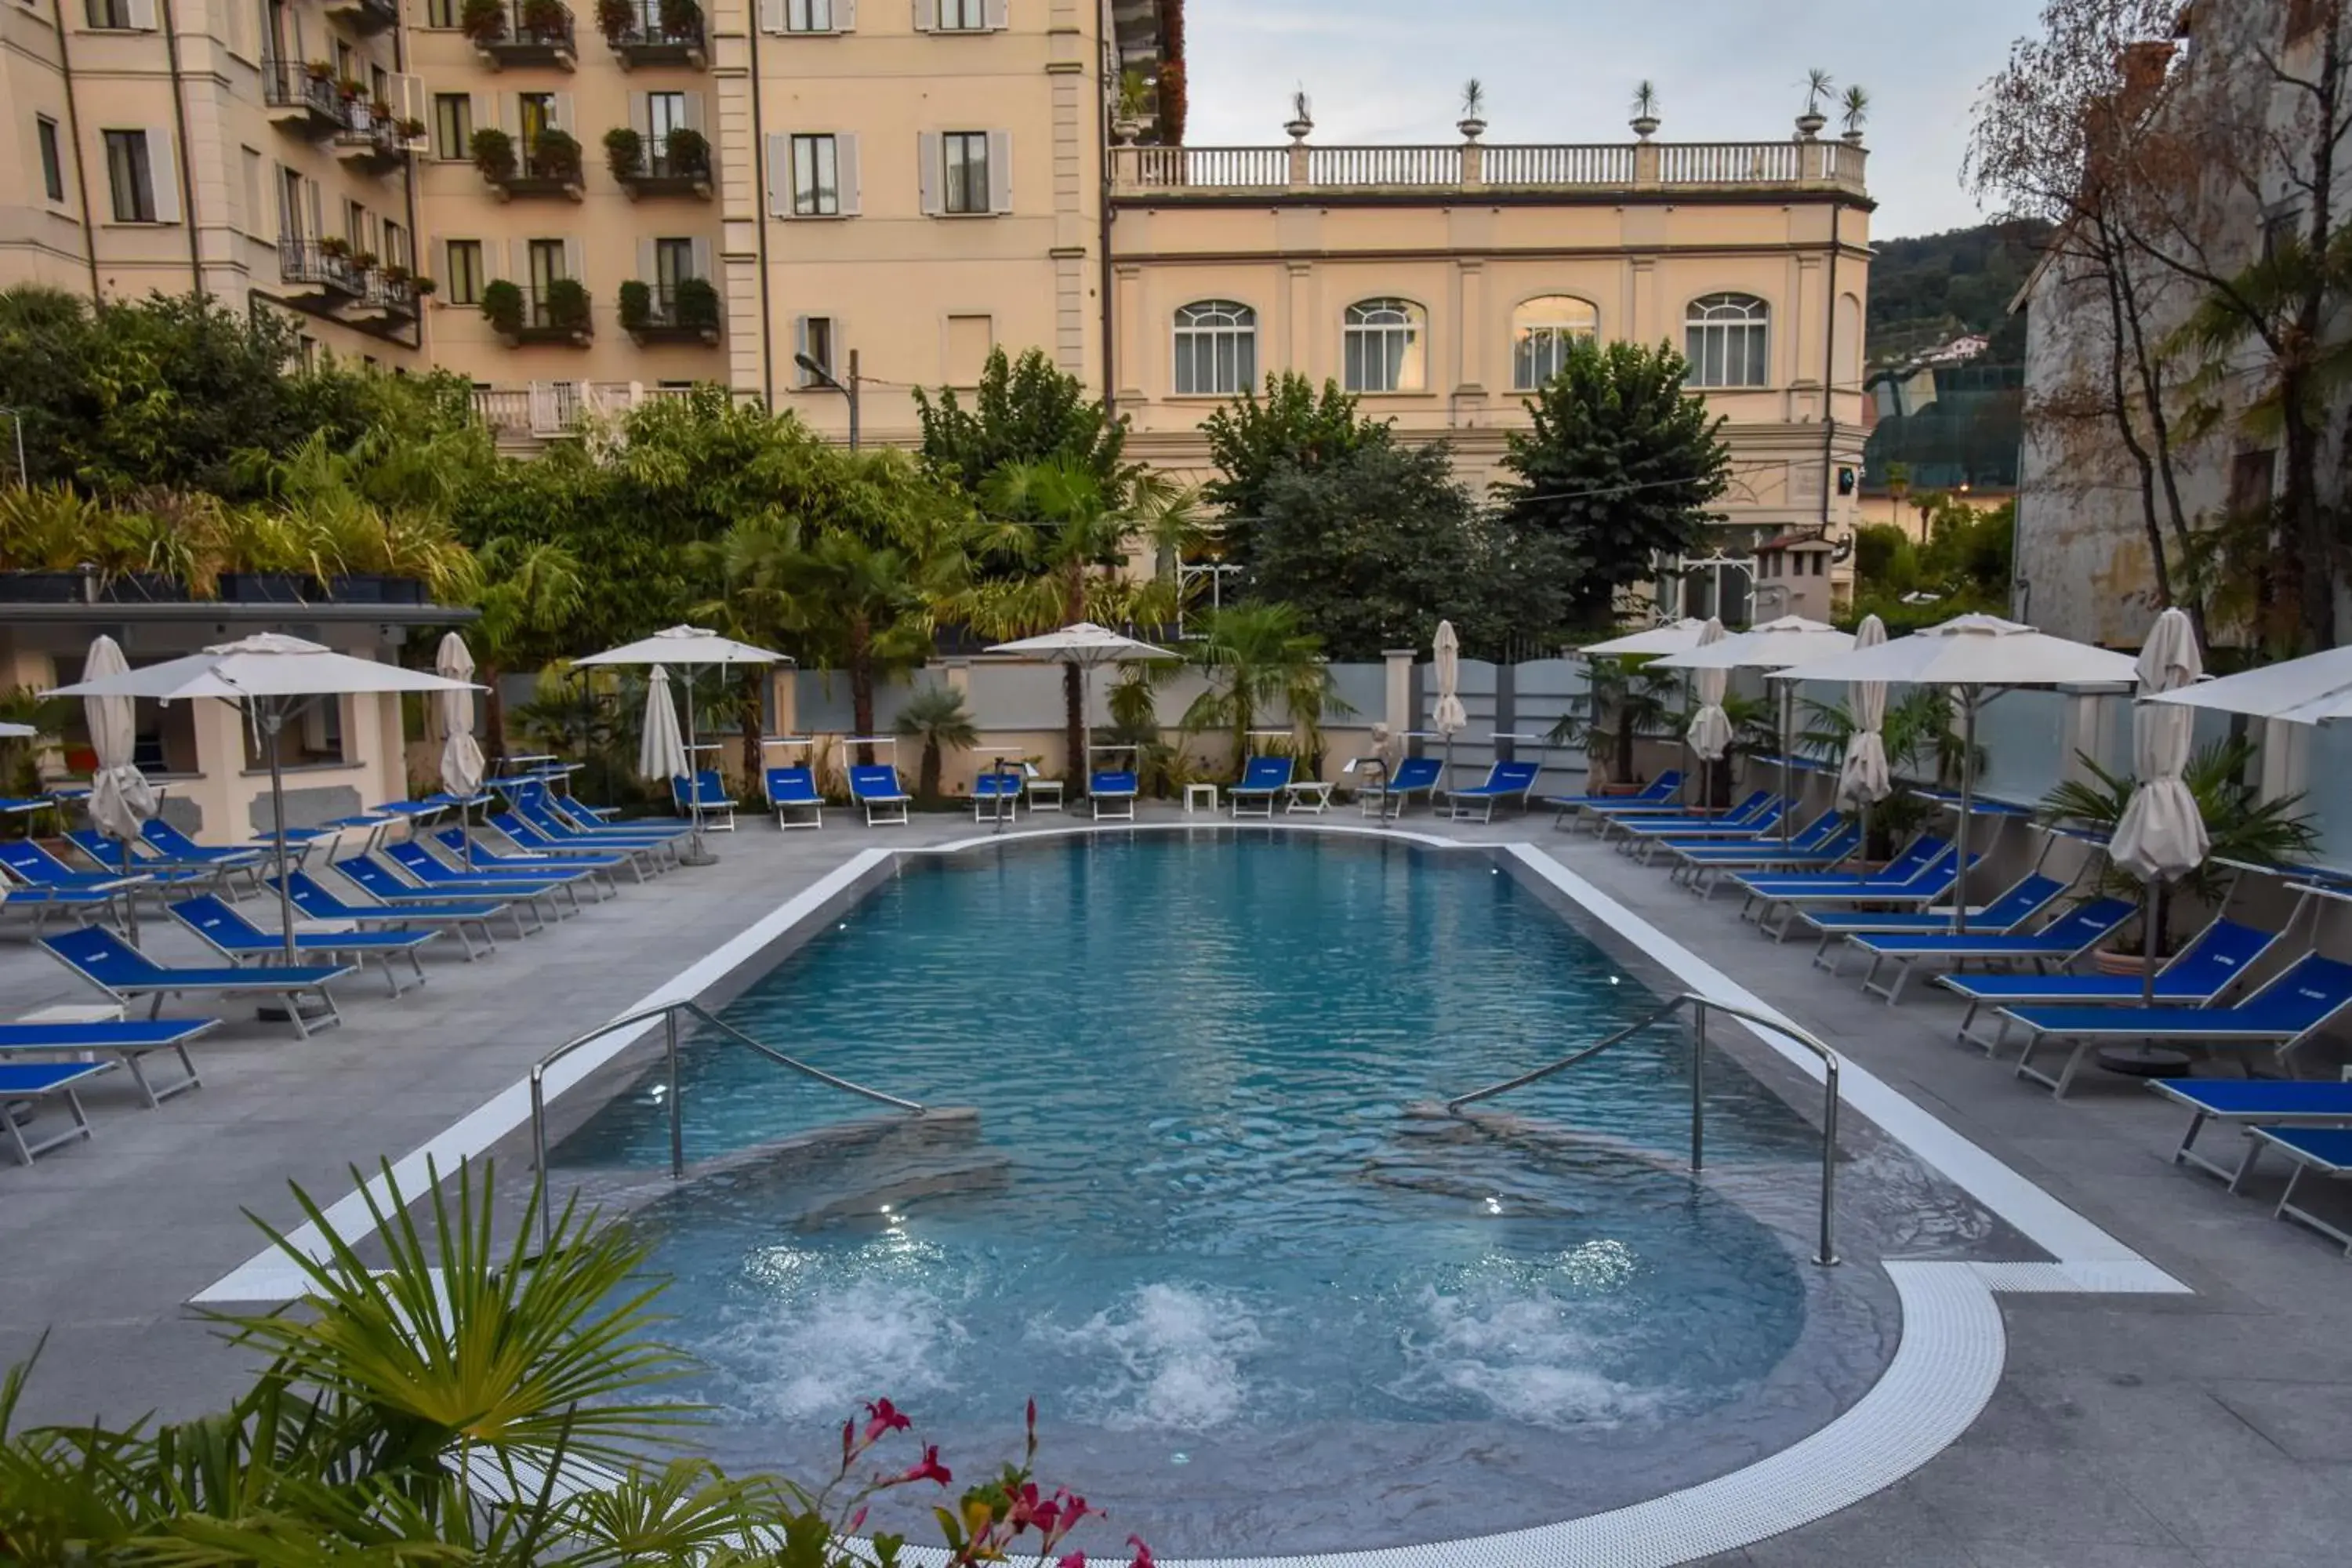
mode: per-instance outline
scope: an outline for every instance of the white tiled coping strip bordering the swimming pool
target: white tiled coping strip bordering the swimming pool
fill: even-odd
[[[1327,832],[1378,837],[1390,842],[1510,856],[1526,875],[1559,891],[1618,936],[1672,973],[1682,985],[1766,1018],[1797,1027],[1788,1013],[1764,1004],[1724,971],[1672,940],[1653,924],[1606,896],[1588,879],[1526,842],[1463,842],[1395,827],[1348,823],[1242,823],[1284,832]],[[659,1009],[703,994],[739,966],[755,959],[804,919],[849,893],[877,867],[901,856],[953,856],[1016,839],[1065,839],[1087,835],[1195,832],[1230,830],[1232,823],[1073,823],[1051,830],[981,835],[950,844],[906,849],[861,849],[814,884],[783,900],[746,926],[734,940],[703,954],[663,985],[647,992],[616,1018]],[[1820,1063],[1795,1041],[1769,1027],[1748,1025],[1764,1046],[1780,1053],[1799,1072],[1823,1077]],[[656,1027],[644,1023],[581,1048],[548,1072],[548,1098],[564,1093],[597,1067]],[[550,1041],[553,1044],[553,1041]],[[1216,1556],[1164,1559],[1164,1568],[1668,1568],[1693,1559],[1748,1547],[1752,1542],[1825,1519],[1879,1493],[1943,1453],[1985,1408],[2002,1380],[2006,1333],[1997,1291],[2016,1293],[2119,1293],[2178,1295],[2178,1279],[2074,1213],[2049,1192],[2009,1168],[1980,1145],[1962,1138],[1943,1119],[1903,1095],[1898,1088],[1842,1060],[1839,1088],[1844,1105],[1867,1117],[1889,1138],[1903,1143],[1922,1164],[1940,1171],[1971,1199],[2006,1220],[2051,1255],[2051,1262],[1898,1262],[1882,1267],[1896,1286],[1903,1324],[1896,1354],[1879,1380],[1839,1418],[1811,1436],[1726,1476],[1686,1486],[1646,1502],[1604,1514],[1588,1514],[1529,1530],[1479,1535],[1437,1544],[1378,1547],[1364,1552],[1322,1552],[1303,1556]],[[412,1150],[390,1168],[402,1192],[423,1192],[428,1164],[442,1171],[477,1157],[515,1133],[532,1117],[529,1079],[510,1084],[447,1131]],[[346,1239],[365,1237],[369,1194],[381,1204],[386,1178],[376,1175],[362,1190],[327,1208],[327,1220]],[[287,1241],[308,1258],[325,1255],[318,1225],[301,1225]],[[195,1305],[280,1302],[303,1293],[303,1276],[278,1248],[256,1253],[238,1269],[200,1291]],[[910,1561],[941,1563],[943,1552],[913,1549]]]

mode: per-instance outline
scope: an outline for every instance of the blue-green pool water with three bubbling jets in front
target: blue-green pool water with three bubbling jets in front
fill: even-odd
[[[1136,835],[913,865],[729,1020],[976,1128],[642,1211],[668,1335],[739,1462],[816,1465],[877,1394],[995,1458],[1035,1394],[1047,1467],[1162,1549],[1463,1533],[1449,1500],[1496,1486],[1576,1512],[1762,1387],[1802,1265],[1686,1175],[1677,1032],[1501,1103],[1531,1128],[1430,1103],[1653,1006],[1482,856]],[[1785,1105],[1719,1058],[1708,1093],[1710,1161],[1802,1171]],[[710,1041],[682,1105],[691,1161],[866,1114]],[[659,1074],[560,1159],[666,1166]]]

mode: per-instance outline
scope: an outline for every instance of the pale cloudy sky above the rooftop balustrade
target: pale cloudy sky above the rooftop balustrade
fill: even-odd
[[[1486,85],[1489,141],[1625,141],[1635,82],[1661,139],[1792,134],[1804,73],[1870,89],[1882,240],[1978,221],[1959,188],[1969,106],[2042,0],[1188,0],[1185,141],[1282,141],[1289,94],[1315,141],[1456,141]]]

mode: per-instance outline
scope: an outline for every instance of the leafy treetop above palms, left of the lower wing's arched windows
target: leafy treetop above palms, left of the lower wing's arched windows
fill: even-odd
[[[967,496],[1009,463],[1065,461],[1091,473],[1105,494],[1136,475],[1120,461],[1127,421],[1087,397],[1087,386],[1040,348],[1021,360],[1007,360],[1002,348],[990,353],[969,409],[955,388],[938,388],[936,400],[915,388],[915,416],[924,468]]]

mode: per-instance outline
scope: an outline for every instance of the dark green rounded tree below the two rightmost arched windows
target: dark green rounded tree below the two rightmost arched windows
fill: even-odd
[[[1722,416],[1682,390],[1689,364],[1668,346],[1573,339],[1508,437],[1494,487],[1515,531],[1515,569],[1555,588],[1583,625],[1611,616],[1616,590],[1651,576],[1653,555],[1700,543],[1708,503],[1731,487]]]

